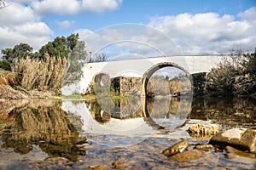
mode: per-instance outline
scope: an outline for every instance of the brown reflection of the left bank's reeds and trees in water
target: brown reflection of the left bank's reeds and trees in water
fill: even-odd
[[[1,130],[3,148],[26,154],[32,150],[32,144],[37,144],[48,156],[63,156],[71,161],[85,155],[78,144],[86,139],[79,139],[79,133],[61,110],[61,103],[29,105],[9,112],[9,116],[15,118]]]

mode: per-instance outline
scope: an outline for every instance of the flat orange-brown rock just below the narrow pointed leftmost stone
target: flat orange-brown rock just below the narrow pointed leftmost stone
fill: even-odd
[[[183,153],[178,153],[175,156],[171,156],[171,160],[174,161],[190,161],[199,159],[205,156],[205,152],[201,150],[186,150]]]

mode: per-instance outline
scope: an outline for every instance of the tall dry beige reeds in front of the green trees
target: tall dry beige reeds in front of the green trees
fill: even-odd
[[[62,78],[67,72],[67,59],[45,54],[44,60],[19,59],[12,65],[17,81],[26,90],[38,89],[61,94]]]

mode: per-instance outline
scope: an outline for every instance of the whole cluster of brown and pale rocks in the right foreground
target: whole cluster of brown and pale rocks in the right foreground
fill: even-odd
[[[195,124],[190,126],[188,131],[191,136],[196,136],[195,134],[202,136],[212,134],[212,138],[207,144],[193,144],[193,148],[189,148],[191,144],[186,140],[179,141],[161,153],[174,161],[199,159],[204,157],[206,152],[210,150],[215,152],[225,150],[226,157],[230,159],[237,156],[256,158],[256,129],[241,127],[218,133],[218,126],[215,124]]]

